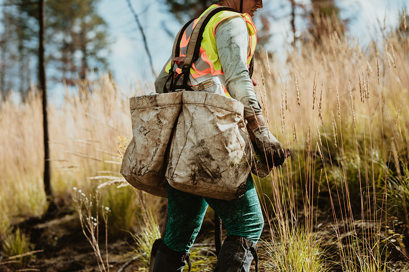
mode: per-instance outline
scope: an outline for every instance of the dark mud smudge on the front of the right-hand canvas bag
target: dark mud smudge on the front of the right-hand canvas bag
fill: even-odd
[[[212,154],[210,154],[209,147],[206,146],[204,139],[198,141],[190,149],[192,154],[192,162],[189,163],[191,170],[190,179],[193,185],[198,182],[206,180],[207,182],[217,184],[218,180],[222,178],[220,167],[216,168],[212,163],[215,161]]]

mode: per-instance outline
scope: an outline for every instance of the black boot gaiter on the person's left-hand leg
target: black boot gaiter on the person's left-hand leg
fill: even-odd
[[[190,261],[190,253],[180,253],[169,249],[164,243],[159,246],[156,253],[155,262],[153,264],[153,272],[182,272],[186,265],[189,265],[189,270],[192,268]]]

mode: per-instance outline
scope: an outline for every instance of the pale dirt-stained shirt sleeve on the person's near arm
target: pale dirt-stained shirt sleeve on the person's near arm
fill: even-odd
[[[234,99],[244,104],[244,117],[261,114],[252,80],[248,76],[248,33],[241,17],[226,19],[219,24],[216,28],[216,47],[225,87]]]

